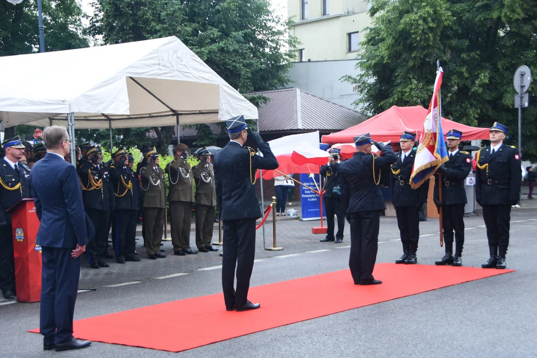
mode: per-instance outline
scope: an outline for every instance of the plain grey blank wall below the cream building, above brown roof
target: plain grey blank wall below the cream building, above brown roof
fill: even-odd
[[[358,60],[295,62],[289,70],[294,83],[289,86],[328,99],[337,104],[356,109],[352,103],[359,96],[348,82],[340,81],[345,75],[357,75]]]

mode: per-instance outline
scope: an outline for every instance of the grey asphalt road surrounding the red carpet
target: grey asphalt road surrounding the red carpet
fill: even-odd
[[[514,213],[511,216],[507,267],[517,272],[365,306],[180,353],[98,342],[93,342],[89,348],[69,353],[43,352],[41,335],[26,332],[39,326],[39,304],[0,302],[0,356],[533,357],[537,355],[535,217],[534,213]],[[485,229],[480,218],[469,218],[468,221],[474,226],[467,224],[463,265],[478,267],[488,258]],[[308,245],[304,246],[307,249],[303,252],[294,250],[293,253],[297,255],[263,257],[254,266],[251,286],[347,268],[348,228],[346,244],[339,246],[318,243],[318,236],[302,231],[302,239],[311,240],[311,246],[329,251],[307,252],[316,251]],[[433,264],[441,257],[443,249],[439,247],[436,235],[424,235],[420,238],[418,262]],[[382,242],[379,244],[377,262],[393,262],[401,255],[400,242],[393,238],[380,239]],[[289,252],[274,253],[286,254]],[[220,293],[220,274],[219,268],[205,269],[188,271],[185,275],[167,279],[141,280],[140,283],[125,286],[103,286],[96,292],[78,295],[75,319]],[[260,303],[263,305],[263,302]],[[174,332],[170,335],[180,337],[180,334]],[[211,327],[200,334],[210,335]]]

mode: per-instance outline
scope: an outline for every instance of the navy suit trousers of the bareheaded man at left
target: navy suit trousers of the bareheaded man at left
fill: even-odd
[[[40,333],[48,343],[72,339],[72,317],[82,256],[71,257],[69,249],[43,246],[41,258]]]

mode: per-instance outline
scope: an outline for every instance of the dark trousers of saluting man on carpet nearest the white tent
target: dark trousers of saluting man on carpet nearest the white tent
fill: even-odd
[[[224,220],[222,289],[226,307],[241,307],[248,299],[253,258],[256,252],[256,220],[254,218]],[[237,265],[237,290],[234,290],[235,264]]]

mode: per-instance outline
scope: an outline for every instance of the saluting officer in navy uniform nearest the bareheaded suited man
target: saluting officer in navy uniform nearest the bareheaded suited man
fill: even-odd
[[[80,171],[84,209],[95,226],[95,236],[90,238],[86,254],[91,268],[110,267],[104,259],[111,255],[106,251],[110,210],[115,204],[111,173],[103,165],[103,154],[99,147],[86,151],[86,162]],[[112,256],[113,257],[113,256]]]

